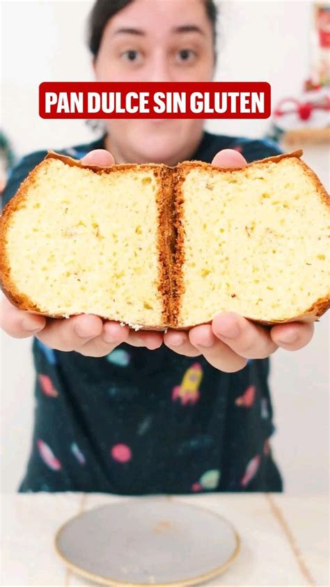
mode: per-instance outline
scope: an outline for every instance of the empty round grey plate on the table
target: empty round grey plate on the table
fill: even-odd
[[[233,526],[205,508],[142,496],[89,510],[58,530],[56,551],[105,585],[181,587],[226,570],[239,552]]]

